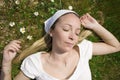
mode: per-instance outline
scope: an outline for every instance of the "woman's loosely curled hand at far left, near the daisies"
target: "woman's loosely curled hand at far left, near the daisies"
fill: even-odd
[[[6,45],[3,51],[3,64],[12,62],[17,52],[21,48],[20,43],[21,42],[18,40],[13,40],[8,45]]]

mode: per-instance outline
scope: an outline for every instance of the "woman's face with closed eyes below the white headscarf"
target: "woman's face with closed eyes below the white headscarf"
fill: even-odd
[[[51,30],[52,49],[59,52],[71,50],[78,42],[80,20],[75,14],[66,14],[59,18],[54,30]]]

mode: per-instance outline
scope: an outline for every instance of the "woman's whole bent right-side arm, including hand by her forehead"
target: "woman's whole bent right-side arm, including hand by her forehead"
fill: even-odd
[[[103,55],[120,51],[120,42],[92,16],[86,14],[82,16],[80,20],[85,28],[94,31],[104,41],[93,43],[93,55]]]

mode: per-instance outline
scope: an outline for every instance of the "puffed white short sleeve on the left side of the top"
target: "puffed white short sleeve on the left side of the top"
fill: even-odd
[[[34,63],[31,60],[31,57],[25,58],[25,60],[21,64],[21,71],[29,78],[34,79],[35,75],[35,69],[34,69]]]

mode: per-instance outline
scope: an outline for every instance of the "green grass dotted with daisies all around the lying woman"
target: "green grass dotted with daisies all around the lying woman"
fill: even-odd
[[[37,0],[35,0],[37,1]],[[73,10],[83,15],[89,12],[103,26],[113,33],[120,41],[120,0],[40,0],[38,4],[33,4],[29,0],[21,0],[21,4],[5,0],[5,6],[0,7],[0,53],[9,41],[21,39],[22,50],[30,46],[34,41],[43,36],[43,22],[58,9],[68,9],[73,6]],[[39,16],[33,13],[39,12]],[[102,15],[99,13],[101,12]],[[15,22],[15,26],[10,27],[9,22]],[[21,34],[19,29],[26,28],[25,34]],[[33,39],[26,37],[32,35]],[[99,37],[90,36],[90,40],[99,41]],[[0,64],[2,54],[0,54]],[[1,65],[0,65],[1,66]],[[12,75],[19,72],[19,64],[13,65]],[[93,56],[90,60],[93,80],[119,80],[120,79],[120,52],[104,56]]]

